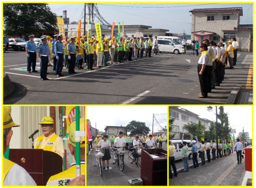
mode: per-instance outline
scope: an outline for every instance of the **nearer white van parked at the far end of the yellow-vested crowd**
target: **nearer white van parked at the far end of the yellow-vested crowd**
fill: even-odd
[[[158,39],[158,47],[160,52],[184,53],[184,46],[172,40]]]

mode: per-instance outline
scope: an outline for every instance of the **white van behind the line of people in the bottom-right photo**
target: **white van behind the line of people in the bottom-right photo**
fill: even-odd
[[[191,155],[191,148],[192,148],[192,143],[191,140],[183,140],[185,142],[187,142],[187,146],[188,146],[188,159],[192,159],[192,155]],[[172,140],[173,145],[175,146],[175,153],[174,153],[174,157],[175,160],[179,160],[181,159],[181,149],[183,147],[181,140]],[[200,144],[196,143],[197,145],[197,150],[200,149]]]

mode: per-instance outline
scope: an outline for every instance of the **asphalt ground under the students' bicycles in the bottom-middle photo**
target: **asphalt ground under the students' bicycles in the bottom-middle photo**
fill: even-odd
[[[165,142],[163,142],[162,146],[163,149],[167,148]],[[110,153],[112,154],[112,152]],[[94,154],[94,151],[88,153],[87,146],[87,186],[127,186],[129,185],[129,179],[140,177],[140,170],[138,166],[136,166],[135,163],[131,164],[128,161],[128,150],[125,150],[124,154],[124,171],[120,171],[120,168],[119,166],[117,166],[117,163],[113,165],[113,159],[111,158],[109,160],[109,166],[111,166],[112,169],[103,171],[102,176],[100,175],[99,167],[95,166],[96,160]]]

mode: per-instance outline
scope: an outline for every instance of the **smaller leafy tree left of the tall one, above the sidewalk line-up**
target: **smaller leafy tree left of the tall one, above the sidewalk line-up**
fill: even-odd
[[[197,136],[200,140],[201,137],[204,137],[203,132],[206,130],[206,127],[199,121],[198,123],[188,123],[183,126],[183,129],[187,130],[189,134]]]

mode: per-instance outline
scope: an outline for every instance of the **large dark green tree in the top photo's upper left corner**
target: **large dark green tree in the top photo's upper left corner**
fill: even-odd
[[[4,30],[9,36],[27,33],[56,31],[56,14],[48,4],[6,3],[4,4]]]

